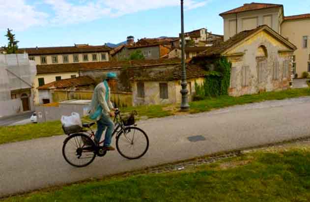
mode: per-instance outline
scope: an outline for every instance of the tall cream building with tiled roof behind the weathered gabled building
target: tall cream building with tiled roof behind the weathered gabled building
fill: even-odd
[[[310,72],[310,14],[284,16],[282,4],[245,3],[220,14],[224,20],[224,40],[244,31],[268,25],[296,45],[293,74]]]

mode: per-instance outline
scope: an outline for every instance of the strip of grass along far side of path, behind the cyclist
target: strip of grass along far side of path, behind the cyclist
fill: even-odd
[[[301,88],[283,90],[278,92],[265,92],[254,95],[244,95],[241,97],[219,96],[216,98],[209,98],[197,102],[191,102],[190,113],[206,112],[213,109],[219,109],[233,105],[261,102],[265,100],[281,100],[285,98],[301,96],[310,96],[310,90],[308,88]],[[132,110],[136,110],[139,114],[139,117],[146,116],[148,118],[155,118],[178,114],[179,105],[174,104],[163,106],[138,106],[129,107],[121,110],[123,112],[130,112]],[[28,124],[21,126],[6,126],[0,127],[0,144],[62,134],[63,132],[60,121]]]

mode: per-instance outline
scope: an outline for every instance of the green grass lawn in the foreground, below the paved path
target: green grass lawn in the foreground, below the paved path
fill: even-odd
[[[259,151],[161,174],[74,184],[4,202],[309,202],[310,148]]]

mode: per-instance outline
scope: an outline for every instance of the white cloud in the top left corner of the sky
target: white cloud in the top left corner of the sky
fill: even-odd
[[[46,23],[48,14],[36,11],[25,0],[0,0],[0,30],[24,30]]]

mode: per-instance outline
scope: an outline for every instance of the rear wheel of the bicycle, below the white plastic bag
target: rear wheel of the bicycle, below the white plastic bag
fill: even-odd
[[[96,146],[92,139],[85,134],[69,136],[62,146],[64,159],[74,167],[88,166],[96,157]]]

